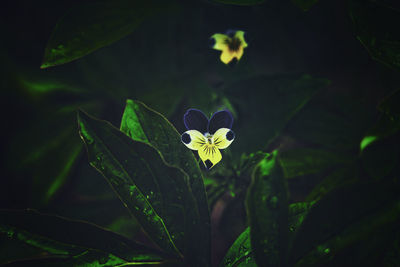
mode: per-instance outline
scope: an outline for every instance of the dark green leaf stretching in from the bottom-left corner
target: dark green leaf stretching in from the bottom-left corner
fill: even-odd
[[[94,224],[34,210],[0,210],[0,232],[50,254],[77,256],[95,249],[126,261],[160,260],[160,253]]]

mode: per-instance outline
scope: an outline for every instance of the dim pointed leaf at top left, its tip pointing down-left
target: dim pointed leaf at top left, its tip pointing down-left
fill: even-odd
[[[77,5],[58,21],[47,43],[41,68],[64,64],[110,45],[170,3],[100,1]]]

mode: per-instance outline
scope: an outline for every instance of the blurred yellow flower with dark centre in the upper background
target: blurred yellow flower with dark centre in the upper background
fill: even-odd
[[[244,48],[247,47],[244,31],[229,30],[226,34],[216,33],[211,38],[215,40],[213,48],[222,51],[220,59],[225,64],[228,64],[234,58],[239,61],[243,56]]]

